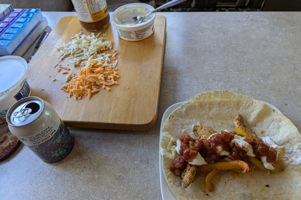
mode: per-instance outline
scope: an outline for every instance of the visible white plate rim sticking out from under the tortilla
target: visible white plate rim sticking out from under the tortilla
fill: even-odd
[[[161,121],[161,128],[160,128],[160,140],[161,140],[161,130],[163,127],[163,124],[165,122],[165,120],[168,118],[168,116],[178,107],[180,107],[184,102],[181,103],[176,103],[172,106],[170,106],[167,110],[165,110],[163,117],[162,117],[162,121]],[[262,103],[265,103],[263,101],[261,101]],[[276,112],[279,112],[280,114],[282,114],[275,106],[272,106],[269,103],[265,103],[267,104],[269,107],[273,108]],[[172,193],[171,189],[169,188],[164,173],[163,173],[163,168],[162,168],[162,155],[161,152],[159,150],[159,166],[160,166],[160,184],[161,184],[161,193],[162,193],[162,199],[163,200],[178,200],[178,198],[175,197],[174,193]]]

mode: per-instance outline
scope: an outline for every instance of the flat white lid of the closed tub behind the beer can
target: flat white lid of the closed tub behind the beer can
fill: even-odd
[[[0,99],[12,92],[28,73],[26,61],[19,56],[0,57]]]

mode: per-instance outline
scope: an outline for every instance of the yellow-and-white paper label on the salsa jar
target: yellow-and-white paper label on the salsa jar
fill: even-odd
[[[78,19],[82,22],[97,22],[108,14],[106,0],[72,0]]]

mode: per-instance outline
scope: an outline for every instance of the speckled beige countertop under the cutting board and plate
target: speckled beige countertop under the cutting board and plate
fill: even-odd
[[[23,144],[0,163],[0,199],[161,199],[164,111],[228,90],[277,107],[301,130],[301,12],[173,12],[166,16],[157,122],[148,131],[69,128],[71,154],[41,161]],[[50,28],[68,12],[43,12]]]

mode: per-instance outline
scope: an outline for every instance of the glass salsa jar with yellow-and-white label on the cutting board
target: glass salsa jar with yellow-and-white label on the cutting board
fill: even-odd
[[[96,31],[110,21],[106,0],[72,0],[79,22],[84,29]]]

